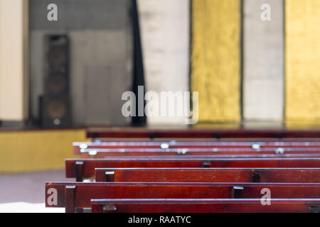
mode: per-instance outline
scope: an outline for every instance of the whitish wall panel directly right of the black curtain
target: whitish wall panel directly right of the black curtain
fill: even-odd
[[[138,7],[146,92],[188,92],[190,1],[139,0]],[[147,118],[149,125],[184,122],[185,117],[178,116]]]

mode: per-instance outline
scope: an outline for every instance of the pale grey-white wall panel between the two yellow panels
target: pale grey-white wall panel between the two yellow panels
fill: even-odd
[[[261,6],[270,5],[271,20],[262,21]],[[260,10],[258,10],[260,9]],[[265,7],[262,7],[265,10]],[[243,1],[243,119],[284,119],[284,2]]]

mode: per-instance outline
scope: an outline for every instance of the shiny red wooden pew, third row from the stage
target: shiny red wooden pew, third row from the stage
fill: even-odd
[[[259,150],[250,150],[248,148],[174,148],[174,149],[81,149],[82,158],[103,158],[112,156],[160,156],[160,155],[320,155],[320,148],[262,148]],[[305,156],[305,157],[306,157]],[[294,157],[294,156],[292,156]],[[314,156],[316,157],[316,156]]]

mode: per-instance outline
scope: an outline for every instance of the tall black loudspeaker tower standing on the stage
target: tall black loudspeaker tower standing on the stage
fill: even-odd
[[[46,35],[44,50],[44,94],[39,99],[41,125],[71,126],[68,36]]]

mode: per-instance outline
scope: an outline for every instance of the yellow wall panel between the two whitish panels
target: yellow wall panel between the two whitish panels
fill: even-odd
[[[192,1],[191,88],[199,122],[240,121],[240,0]]]

